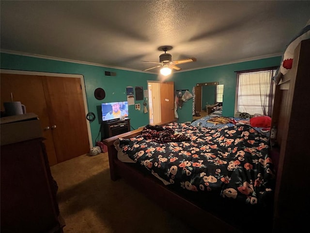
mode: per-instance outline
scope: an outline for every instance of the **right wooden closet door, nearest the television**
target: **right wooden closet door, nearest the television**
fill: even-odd
[[[46,76],[43,87],[57,161],[60,163],[89,152],[80,79]]]

